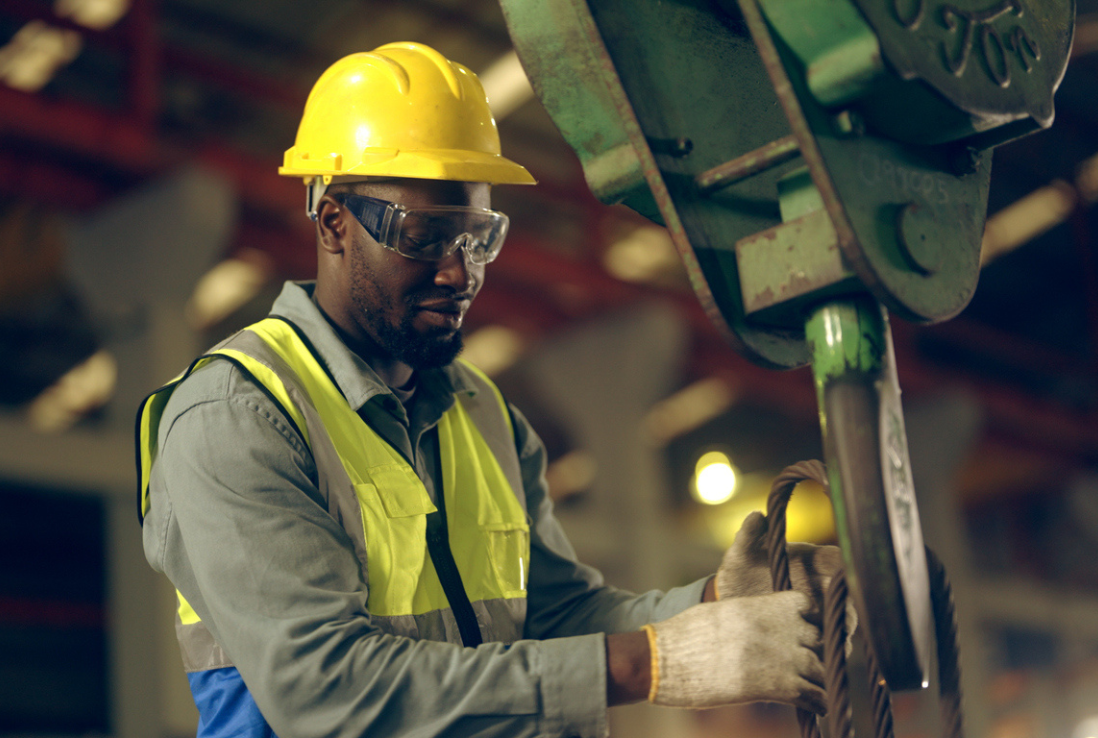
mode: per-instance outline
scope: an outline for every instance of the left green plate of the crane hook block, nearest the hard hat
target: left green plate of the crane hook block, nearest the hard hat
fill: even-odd
[[[762,366],[807,364],[799,321],[748,320],[736,261],[738,239],[781,223],[777,180],[796,163],[712,194],[695,183],[702,172],[789,133],[742,21],[714,13],[705,0],[501,4],[535,91],[589,181],[590,161],[628,141],[695,293],[729,343]],[[652,143],[680,138],[692,142],[688,154],[653,152],[662,147]]]

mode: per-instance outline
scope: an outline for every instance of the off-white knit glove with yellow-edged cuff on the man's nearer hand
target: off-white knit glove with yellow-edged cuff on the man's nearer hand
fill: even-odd
[[[784,702],[824,713],[820,631],[808,597],[777,592],[694,605],[646,625],[652,652],[649,702],[715,707]]]

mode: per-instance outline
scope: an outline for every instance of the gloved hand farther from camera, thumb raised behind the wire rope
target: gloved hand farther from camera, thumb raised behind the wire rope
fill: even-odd
[[[818,615],[822,612],[824,593],[831,584],[831,578],[842,568],[842,554],[837,546],[811,544],[787,544],[786,551],[793,589],[811,599],[813,613]],[[736,540],[725,551],[716,584],[718,600],[774,591],[766,560],[766,517],[762,513],[751,513],[743,521]]]

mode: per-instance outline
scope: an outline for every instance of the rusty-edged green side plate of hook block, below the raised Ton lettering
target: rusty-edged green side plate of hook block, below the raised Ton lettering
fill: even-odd
[[[907,320],[933,322],[959,313],[971,300],[979,272],[990,153],[977,155],[974,171],[959,175],[953,150],[946,147],[899,144],[856,126],[844,131],[814,100],[755,0],[739,0],[739,7],[847,265],[878,300]],[[897,211],[908,203],[921,213],[916,217],[949,226],[942,233],[941,264],[932,275],[912,268],[900,253]]]

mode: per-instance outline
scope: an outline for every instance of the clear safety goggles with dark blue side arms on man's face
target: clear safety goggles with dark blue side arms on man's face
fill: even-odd
[[[410,259],[438,261],[464,248],[470,261],[488,264],[500,256],[507,235],[507,216],[484,208],[406,208],[346,192],[333,198],[374,241]]]

